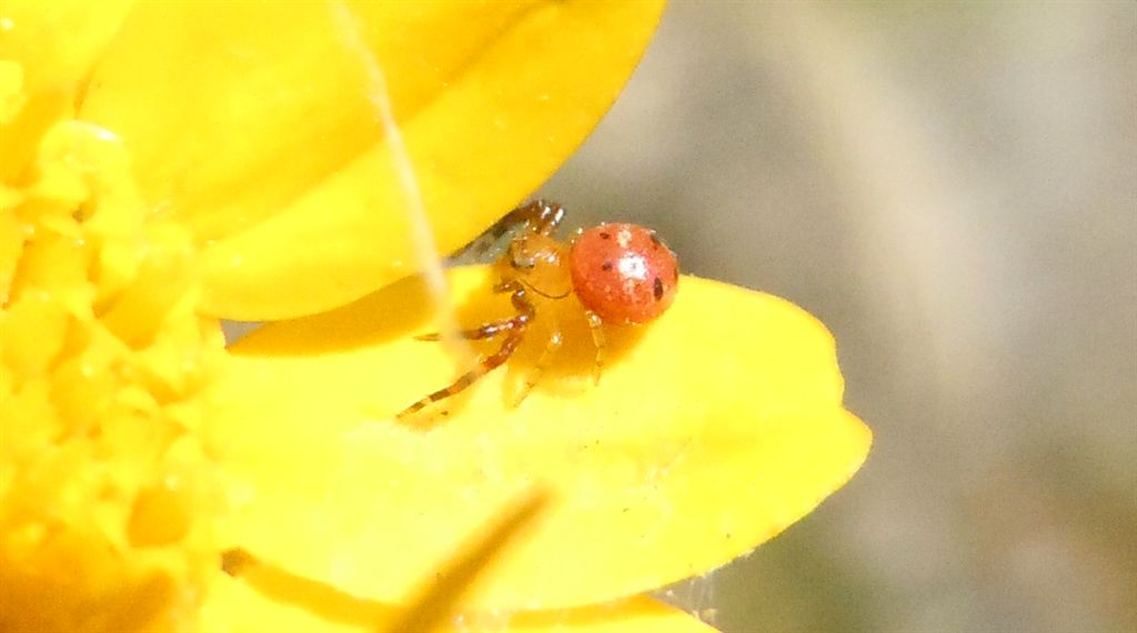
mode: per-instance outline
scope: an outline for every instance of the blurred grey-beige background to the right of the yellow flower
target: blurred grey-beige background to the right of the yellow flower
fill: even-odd
[[[1135,183],[1137,3],[674,2],[542,193],[819,316],[875,432],[675,593],[730,633],[1137,630]]]

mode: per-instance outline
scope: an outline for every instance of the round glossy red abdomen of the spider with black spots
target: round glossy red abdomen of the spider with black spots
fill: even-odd
[[[570,257],[580,302],[608,323],[647,323],[675,299],[679,265],[655,232],[601,224],[581,233]]]

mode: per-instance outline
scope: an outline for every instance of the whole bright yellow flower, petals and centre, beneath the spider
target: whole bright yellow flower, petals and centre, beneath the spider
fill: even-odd
[[[750,551],[866,455],[812,317],[684,277],[609,332],[594,385],[565,302],[520,406],[539,344],[454,415],[392,419],[455,364],[413,340],[435,299],[399,281],[421,240],[376,69],[453,250],[583,139],[658,13],[5,2],[0,628],[414,628],[413,597],[460,590],[464,626],[705,630],[637,595]],[[447,278],[463,323],[508,310],[488,268]],[[221,318],[275,323],[226,349]]]

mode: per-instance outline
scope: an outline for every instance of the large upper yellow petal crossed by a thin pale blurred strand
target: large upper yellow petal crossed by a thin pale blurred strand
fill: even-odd
[[[142,5],[92,81],[83,116],[121,134],[151,203],[210,243],[213,314],[312,314],[414,269],[368,55],[447,251],[583,140],[662,3],[350,3],[366,50],[335,7]]]

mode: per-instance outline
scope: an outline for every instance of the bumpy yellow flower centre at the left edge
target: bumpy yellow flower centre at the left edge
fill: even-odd
[[[192,626],[221,511],[194,430],[225,353],[194,248],[109,132],[64,118],[24,150],[0,184],[0,630]]]

